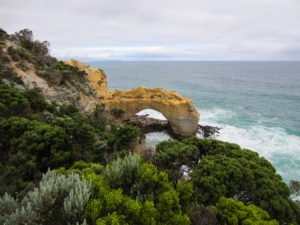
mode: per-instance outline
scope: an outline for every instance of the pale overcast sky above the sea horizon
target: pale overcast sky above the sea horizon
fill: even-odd
[[[300,0],[0,0],[58,58],[300,60]]]

